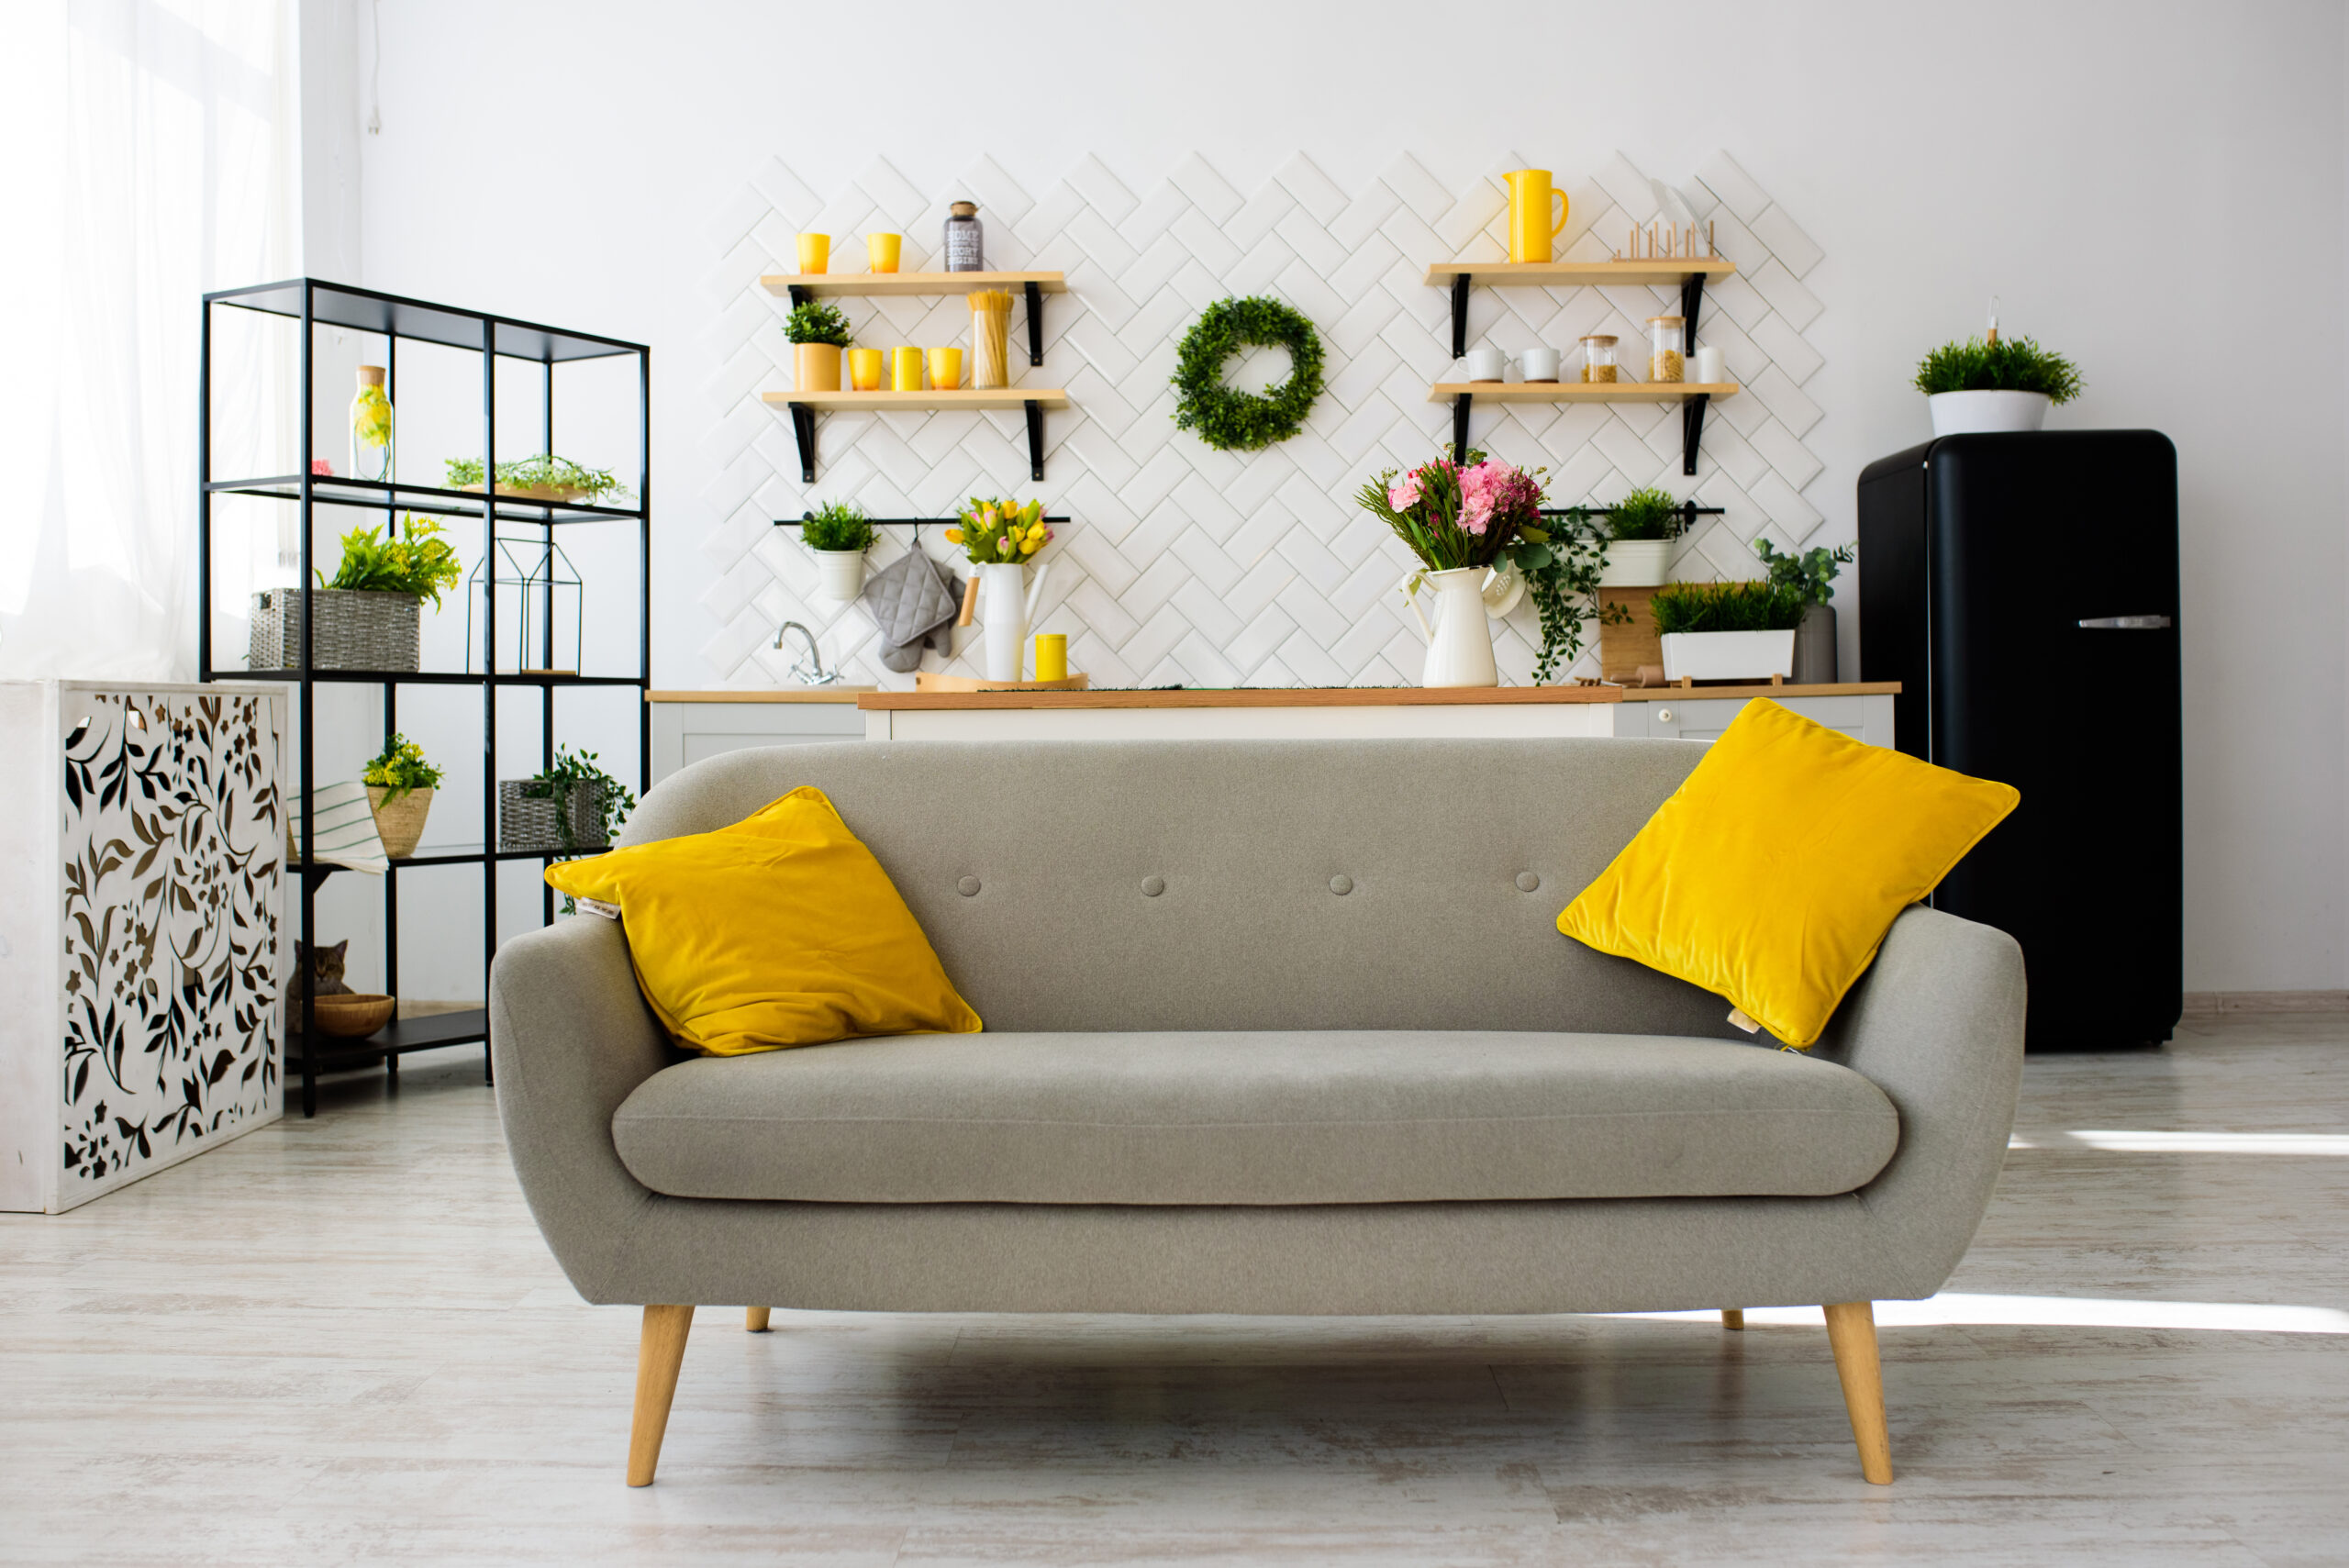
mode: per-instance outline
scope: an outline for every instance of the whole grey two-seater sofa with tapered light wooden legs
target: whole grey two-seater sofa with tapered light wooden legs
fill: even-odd
[[[817,784],[982,1035],[686,1059],[620,925],[491,974],[521,1190],[592,1303],[644,1305],[653,1479],[695,1303],[862,1312],[1828,1307],[1889,1481],[1870,1303],[1931,1296],[2004,1157],[2022,958],[1896,922],[1809,1056],[1557,934],[1694,742],[850,744],[735,751],[627,843]]]

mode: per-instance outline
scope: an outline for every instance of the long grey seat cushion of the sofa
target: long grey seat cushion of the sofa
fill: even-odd
[[[611,1129],[655,1192],[824,1204],[1820,1197],[1900,1136],[1832,1061],[1515,1030],[850,1040],[665,1068]]]

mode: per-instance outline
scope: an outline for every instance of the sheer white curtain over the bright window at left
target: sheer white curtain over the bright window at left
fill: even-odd
[[[296,42],[294,0],[0,7],[0,676],[193,678],[197,300],[296,268]],[[216,432],[268,448],[247,357]]]

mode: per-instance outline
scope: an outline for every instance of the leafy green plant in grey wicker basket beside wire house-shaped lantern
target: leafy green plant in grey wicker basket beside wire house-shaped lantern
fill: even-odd
[[[458,584],[463,563],[428,516],[402,516],[399,533],[352,528],[343,559],[317,589],[261,589],[244,662],[249,669],[298,669],[308,599],[310,669],[418,669],[420,606]]]

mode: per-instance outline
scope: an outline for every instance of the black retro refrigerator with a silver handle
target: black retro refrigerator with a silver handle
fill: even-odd
[[[2030,1049],[2168,1040],[2185,991],[2178,453],[1940,437],[1860,474],[1860,678],[1903,751],[2022,805],[1933,897],[2022,944]]]

